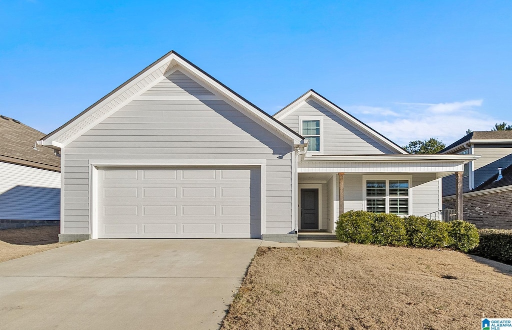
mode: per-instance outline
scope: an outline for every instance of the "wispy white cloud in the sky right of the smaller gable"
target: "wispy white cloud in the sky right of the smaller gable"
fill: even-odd
[[[468,128],[473,131],[485,131],[493,128],[497,122],[503,121],[486,114],[481,108],[482,104],[482,100],[437,104],[395,103],[392,108],[384,108],[397,114],[393,119],[385,118],[386,114],[379,117],[378,112],[370,115],[362,111],[357,117],[400,146],[407,145],[411,140],[431,137],[449,145],[464,136]],[[365,106],[347,108],[360,107]]]

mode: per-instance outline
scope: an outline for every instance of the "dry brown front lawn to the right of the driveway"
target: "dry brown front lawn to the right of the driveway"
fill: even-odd
[[[476,329],[510,292],[512,266],[455,251],[262,247],[222,329]]]

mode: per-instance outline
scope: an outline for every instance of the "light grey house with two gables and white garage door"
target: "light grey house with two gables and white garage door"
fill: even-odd
[[[437,211],[479,157],[410,155],[313,90],[270,116],[174,51],[38,143],[61,153],[60,241],[293,242],[350,209]]]

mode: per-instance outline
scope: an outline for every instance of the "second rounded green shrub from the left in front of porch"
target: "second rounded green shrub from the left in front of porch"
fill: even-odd
[[[407,245],[407,232],[403,218],[395,214],[380,213],[375,215],[372,224],[372,241],[378,245]]]

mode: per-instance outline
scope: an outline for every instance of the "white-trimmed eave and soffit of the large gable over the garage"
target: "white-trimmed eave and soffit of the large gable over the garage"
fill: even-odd
[[[253,115],[274,132],[293,140],[295,144],[304,144],[303,136],[296,133],[280,121],[275,120],[274,117],[247,101],[238,93],[234,92],[232,89],[210,76],[204,72],[204,70],[191,63],[175,51],[170,51],[152,64],[148,65],[141,72],[114,89],[108,95],[101,98],[98,102],[77,114],[69,122],[43,137],[38,141],[38,143],[44,146],[53,146],[56,149],[67,145],[76,137],[94,127],[117,109],[125,105],[132,97],[140,95],[140,93],[160,81],[167,72],[176,67],[179,67],[182,72],[186,72],[195,78],[198,78],[202,83],[204,83],[204,85],[217,91],[230,102],[238,105],[240,108],[245,110],[247,114]]]

